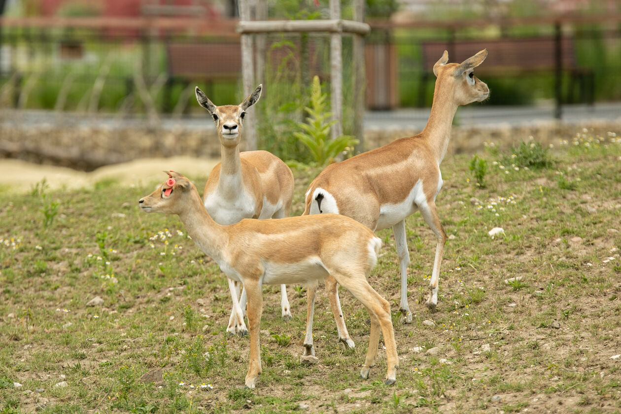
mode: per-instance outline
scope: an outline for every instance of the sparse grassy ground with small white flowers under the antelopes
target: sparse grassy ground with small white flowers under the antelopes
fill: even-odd
[[[138,211],[152,186],[0,193],[0,413],[619,413],[621,142],[560,138],[515,156],[487,146],[486,187],[471,156],[444,161],[437,204],[450,240],[435,313],[422,304],[435,241],[420,214],[407,222],[411,325],[398,322],[392,234],[378,233],[369,281],[393,310],[392,387],[382,350],[371,379],[358,377],[369,326],[351,295],[341,292],[356,348],[337,343],[321,294],[320,362],[302,366],[304,289],[289,286],[294,317],[282,322],[268,286],[263,374],[244,390],[248,338],[225,335],[225,279],[178,218]],[[293,214],[317,173],[294,169]],[[504,234],[491,238],[493,227]]]

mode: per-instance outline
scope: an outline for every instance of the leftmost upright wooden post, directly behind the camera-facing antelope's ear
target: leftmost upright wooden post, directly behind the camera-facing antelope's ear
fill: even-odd
[[[250,0],[239,0],[239,19],[250,21]],[[252,58],[252,34],[242,34],[242,84],[243,98],[247,97],[256,88],[255,70]],[[246,150],[256,150],[256,124],[253,117],[244,121],[243,135],[246,142]]]

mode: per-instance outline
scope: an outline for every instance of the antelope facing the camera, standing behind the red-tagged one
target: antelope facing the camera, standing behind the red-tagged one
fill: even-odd
[[[246,110],[261,97],[262,85],[239,105],[215,106],[196,87],[196,100],[214,119],[220,139],[222,161],[212,169],[205,184],[205,208],[216,223],[237,223],[243,218],[282,218],[288,215],[293,198],[293,174],[277,156],[268,151],[240,153],[239,143]],[[238,286],[229,279],[233,308],[227,332],[245,335],[243,322],[246,294],[239,298]],[[281,285],[284,320],[291,319],[286,286]]]

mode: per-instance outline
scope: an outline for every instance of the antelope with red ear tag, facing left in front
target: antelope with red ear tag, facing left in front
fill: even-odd
[[[394,384],[399,364],[390,305],[366,280],[377,262],[381,240],[371,230],[337,214],[303,215],[278,220],[242,220],[222,226],[204,209],[187,178],[174,171],[138,201],[147,212],[177,214],[188,235],[213,258],[227,277],[242,282],[248,295],[250,366],[246,387],[255,388],[261,373],[259,328],[263,284],[317,284],[333,277],[367,308],[371,318],[369,349],[360,375],[367,379],[378,353],[379,331],[386,345],[386,384]]]

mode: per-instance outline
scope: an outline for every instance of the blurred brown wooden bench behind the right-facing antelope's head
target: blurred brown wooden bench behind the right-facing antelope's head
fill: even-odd
[[[560,61],[557,61],[558,46],[560,46]],[[476,74],[481,75],[479,78],[537,72],[558,76],[556,70],[560,64],[560,70],[570,75],[568,100],[573,101],[574,86],[578,81],[581,101],[589,103],[593,101],[593,73],[587,68],[579,67],[573,38],[562,38],[557,45],[554,37],[533,37],[423,42],[421,45],[423,76],[419,105],[425,104],[426,83],[433,74],[433,65],[445,50],[448,51],[449,61],[462,62],[483,48],[487,48],[489,54],[484,63],[476,68]],[[559,92],[555,93],[557,104],[561,104],[562,101]]]

